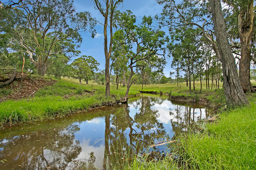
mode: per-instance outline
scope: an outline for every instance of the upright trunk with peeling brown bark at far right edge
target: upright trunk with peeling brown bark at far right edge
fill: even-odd
[[[239,79],[244,92],[254,92],[250,81],[251,41],[253,33],[253,0],[247,10],[238,14],[238,32],[241,42],[241,58],[239,62]]]

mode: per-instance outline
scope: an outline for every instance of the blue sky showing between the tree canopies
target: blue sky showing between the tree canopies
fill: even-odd
[[[104,18],[100,14],[98,10],[95,10],[94,4],[91,0],[74,0],[74,6],[76,7],[76,12],[89,11],[94,18],[100,23],[104,23]],[[120,4],[118,10],[126,11],[130,10],[136,16],[136,22],[140,23],[142,21],[142,17],[152,16],[154,17],[156,14],[161,14],[163,6],[156,3],[155,0],[124,0],[123,4]],[[92,56],[95,60],[100,63],[99,69],[105,69],[105,55],[104,55],[104,37],[103,37],[103,26],[99,23],[95,26],[96,36],[95,38],[91,38],[90,33],[80,32],[83,42],[81,47],[78,50],[81,51],[80,55],[77,57],[72,57],[71,61],[82,56]],[[168,28],[163,28],[167,31]],[[108,36],[110,36],[110,32],[108,31]],[[109,37],[108,37],[109,38]],[[109,40],[109,39],[108,39]],[[167,54],[166,54],[167,56]],[[170,71],[172,70],[171,58],[167,59],[167,64],[164,69],[164,75],[169,77]],[[71,63],[71,62],[70,62]]]

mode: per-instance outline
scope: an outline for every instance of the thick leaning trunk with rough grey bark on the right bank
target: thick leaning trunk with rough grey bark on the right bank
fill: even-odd
[[[220,0],[211,0],[211,11],[223,69],[227,107],[250,105],[238,78],[235,58],[227,39],[227,28],[221,11]]]

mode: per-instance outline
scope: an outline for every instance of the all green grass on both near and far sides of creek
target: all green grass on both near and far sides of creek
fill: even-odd
[[[192,84],[193,85],[193,84]],[[199,93],[200,83],[195,83],[196,90],[189,94],[186,83],[146,85],[144,91],[169,93],[172,96],[189,96],[198,100],[205,97],[216,104],[224,104],[223,89],[206,90],[203,85]],[[70,88],[74,87],[74,88]],[[129,95],[136,95],[142,85],[132,85]],[[222,84],[220,85],[222,87]],[[192,86],[193,88],[193,86]],[[85,91],[95,94],[84,93]],[[79,110],[114,103],[124,96],[126,87],[111,85],[112,96],[106,97],[105,86],[89,81],[87,85],[72,78],[62,78],[52,87],[40,89],[35,97],[20,101],[0,103],[0,124],[10,122],[31,122],[53,119],[72,114]],[[1,91],[2,95],[5,91]],[[75,94],[75,95],[74,95]],[[84,95],[81,95],[84,94]],[[68,98],[64,96],[70,95]],[[73,96],[72,96],[73,95]],[[220,114],[218,122],[203,124],[203,133],[189,133],[180,137],[176,147],[190,169],[256,169],[256,94],[248,93],[251,107],[242,107]],[[159,162],[144,161],[146,157],[136,158],[132,162],[123,162],[115,169],[177,169],[175,162],[168,158]],[[184,167],[183,167],[184,168]]]

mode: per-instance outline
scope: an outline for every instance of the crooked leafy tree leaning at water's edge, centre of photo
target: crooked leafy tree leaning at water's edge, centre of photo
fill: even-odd
[[[163,31],[153,26],[152,17],[144,16],[142,23],[136,26],[135,20],[131,18],[131,15],[126,12],[123,15],[126,16],[126,20],[123,21],[125,25],[123,43],[128,46],[129,69],[131,71],[125,93],[125,97],[127,98],[131,85],[138,79],[132,80],[133,75],[145,67],[145,65],[137,62],[156,62],[160,70],[162,69],[162,66],[165,64],[165,48],[163,46],[168,41],[168,38]],[[160,50],[162,50],[162,53],[158,52]]]

